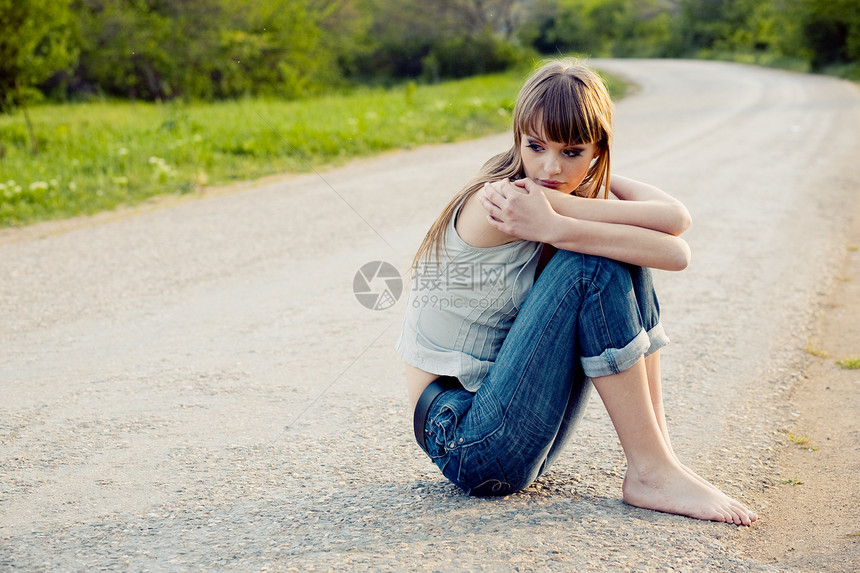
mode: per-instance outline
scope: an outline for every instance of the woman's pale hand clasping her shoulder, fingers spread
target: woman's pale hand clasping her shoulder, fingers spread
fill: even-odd
[[[508,179],[487,183],[478,191],[490,225],[518,239],[552,242],[559,215],[544,194],[544,188],[530,179]]]

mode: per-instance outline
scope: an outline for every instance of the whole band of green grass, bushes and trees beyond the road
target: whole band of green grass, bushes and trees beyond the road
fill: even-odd
[[[857,0],[0,0],[0,227],[504,129],[543,55],[860,78]],[[451,80],[474,78],[467,81]]]

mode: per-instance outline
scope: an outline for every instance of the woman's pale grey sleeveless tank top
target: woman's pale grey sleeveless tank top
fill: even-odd
[[[461,203],[462,206],[462,203]],[[395,347],[409,364],[456,376],[476,391],[534,284],[541,244],[472,247],[457,234],[454,212],[441,260],[413,269],[403,331]]]

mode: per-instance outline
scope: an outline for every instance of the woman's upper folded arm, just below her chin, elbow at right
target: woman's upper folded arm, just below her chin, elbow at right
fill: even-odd
[[[538,186],[533,182],[531,185],[533,188]],[[621,201],[585,199],[552,189],[542,189],[553,210],[566,217],[633,225],[675,236],[690,227],[692,220],[687,208],[653,185],[613,175],[609,188]]]

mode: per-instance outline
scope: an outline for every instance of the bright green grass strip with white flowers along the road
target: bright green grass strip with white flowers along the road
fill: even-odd
[[[302,101],[95,102],[0,115],[0,227],[508,129],[524,72]],[[615,97],[624,84],[610,81]]]

